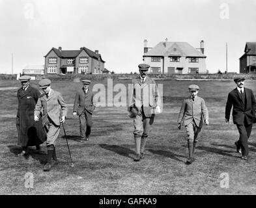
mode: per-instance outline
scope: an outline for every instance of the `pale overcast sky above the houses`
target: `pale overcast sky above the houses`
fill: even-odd
[[[256,42],[256,0],[0,0],[0,73],[44,64],[51,47],[98,50],[105,68],[137,72],[143,40],[199,47],[206,68],[239,72],[246,42]]]

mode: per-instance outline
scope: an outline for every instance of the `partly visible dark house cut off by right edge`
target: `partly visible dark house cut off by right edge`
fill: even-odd
[[[256,72],[256,42],[246,42],[244,55],[240,57],[240,73]]]

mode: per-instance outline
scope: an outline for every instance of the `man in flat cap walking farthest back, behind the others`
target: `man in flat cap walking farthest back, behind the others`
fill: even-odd
[[[92,88],[89,87],[91,81],[85,79],[82,80],[82,83],[83,87],[79,88],[76,92],[73,107],[73,116],[79,116],[80,142],[89,140],[92,127],[92,112],[96,107],[96,103],[93,101],[94,93],[92,92]]]

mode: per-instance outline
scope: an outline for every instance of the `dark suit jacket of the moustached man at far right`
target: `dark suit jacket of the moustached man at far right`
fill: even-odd
[[[244,88],[244,92],[246,93],[245,109],[243,109],[242,107],[242,99],[238,94],[239,92],[237,88],[229,92],[229,96],[227,97],[225,118],[229,120],[231,108],[233,106],[233,122],[234,124],[238,125],[244,124],[244,120],[246,120],[248,124],[253,123],[253,119],[255,116],[256,103],[253,92],[249,88]]]

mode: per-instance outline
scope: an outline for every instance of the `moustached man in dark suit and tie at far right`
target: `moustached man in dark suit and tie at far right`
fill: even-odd
[[[236,151],[242,153],[241,159],[248,159],[248,138],[255,116],[255,97],[249,88],[244,87],[245,77],[238,76],[234,79],[236,88],[229,92],[225,107],[225,122],[229,125],[231,108],[233,107],[233,123],[239,131],[239,139],[235,142]]]

